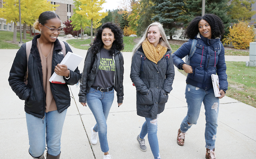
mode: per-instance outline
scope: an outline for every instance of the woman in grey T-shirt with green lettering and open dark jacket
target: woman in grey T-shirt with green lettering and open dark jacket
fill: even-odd
[[[111,22],[102,25],[92,46],[88,49],[80,84],[79,102],[92,111],[96,125],[91,128],[91,143],[97,143],[104,159],[108,153],[107,118],[114,100],[114,89],[118,107],[123,103],[123,36],[120,27]]]

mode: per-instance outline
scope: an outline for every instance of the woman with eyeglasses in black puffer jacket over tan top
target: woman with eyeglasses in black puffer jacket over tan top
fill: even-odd
[[[68,85],[76,84],[81,75],[78,68],[73,72],[60,64],[65,54],[72,51],[67,43],[57,39],[63,30],[59,16],[43,12],[34,28],[41,34],[34,37],[32,44],[27,42],[20,47],[8,80],[16,95],[25,100],[29,154],[32,158],[43,159],[47,147],[46,158],[59,159],[62,128],[70,106]],[[54,72],[63,76],[66,83],[50,83]]]

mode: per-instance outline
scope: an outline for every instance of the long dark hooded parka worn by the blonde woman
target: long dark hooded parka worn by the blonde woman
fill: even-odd
[[[165,103],[168,100],[168,93],[172,90],[174,80],[174,65],[171,56],[168,60],[163,56],[157,64],[144,60],[143,71],[141,72],[141,55],[145,57],[142,47],[133,55],[131,64],[131,80],[136,86],[137,114],[139,116],[155,119],[157,114],[164,111]]]

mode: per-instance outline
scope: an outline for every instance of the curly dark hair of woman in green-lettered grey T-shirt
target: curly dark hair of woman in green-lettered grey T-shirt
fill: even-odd
[[[100,49],[104,46],[104,43],[102,42],[102,31],[105,28],[110,28],[111,31],[114,33],[115,41],[112,43],[112,47],[110,50],[110,54],[114,55],[115,50],[122,51],[123,50],[123,31],[120,29],[118,24],[112,23],[112,22],[106,22],[102,25],[102,27],[97,31],[96,37],[93,41],[93,44],[91,46],[92,53],[96,54]]]

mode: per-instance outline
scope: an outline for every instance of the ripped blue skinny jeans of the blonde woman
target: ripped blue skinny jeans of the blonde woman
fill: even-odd
[[[158,118],[157,114],[157,118]],[[157,139],[157,118],[152,120],[151,118],[145,118],[146,121],[142,125],[140,138],[144,139],[144,137],[148,134],[148,142],[152,151],[152,154],[155,159],[160,159],[159,154],[159,145]]]

